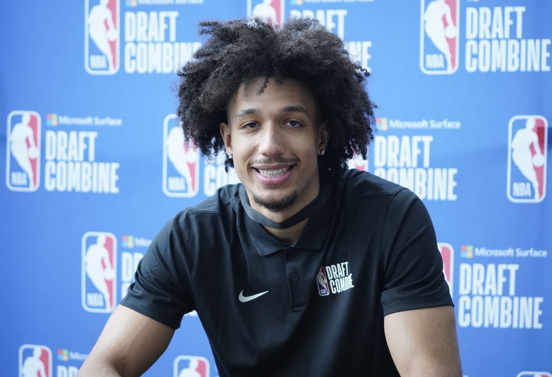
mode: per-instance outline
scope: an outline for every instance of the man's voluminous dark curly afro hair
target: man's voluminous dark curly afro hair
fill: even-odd
[[[185,140],[192,140],[205,157],[224,151],[220,123],[227,123],[227,104],[240,84],[259,77],[264,86],[271,78],[293,78],[310,89],[330,131],[319,160],[323,171],[346,169],[355,153],[367,157],[375,108],[365,91],[369,73],[351,59],[337,35],[309,18],[292,18],[281,27],[261,18],[199,26],[199,33],[209,38],[177,72],[177,114]],[[229,166],[233,162],[227,159]]]

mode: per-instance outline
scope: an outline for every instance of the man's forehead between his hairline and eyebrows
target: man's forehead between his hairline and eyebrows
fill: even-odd
[[[284,79],[277,82],[271,78],[264,83],[264,78],[257,78],[238,87],[229,101],[228,115],[230,120],[234,114],[250,108],[256,113],[273,113],[291,107],[305,108],[312,118],[318,115],[316,99],[299,81]]]

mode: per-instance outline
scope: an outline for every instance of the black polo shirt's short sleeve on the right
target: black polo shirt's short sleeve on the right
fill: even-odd
[[[408,189],[392,199],[381,233],[384,315],[453,305],[432,221]]]

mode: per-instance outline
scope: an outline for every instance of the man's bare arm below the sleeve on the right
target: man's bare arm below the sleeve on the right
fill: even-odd
[[[384,327],[401,376],[462,375],[452,306],[395,312],[385,316]]]

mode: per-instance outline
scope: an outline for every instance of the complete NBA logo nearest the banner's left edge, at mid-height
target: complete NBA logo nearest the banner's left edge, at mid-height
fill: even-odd
[[[9,113],[6,139],[8,189],[36,191],[40,184],[40,115],[21,110]]]

